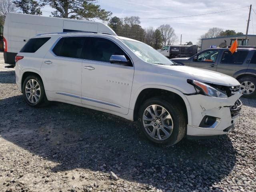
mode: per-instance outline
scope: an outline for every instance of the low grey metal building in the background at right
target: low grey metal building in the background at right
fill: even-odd
[[[216,46],[219,47],[221,43],[224,43],[226,40],[227,46],[230,45],[231,38],[245,38],[245,35],[236,35],[236,36],[224,36],[224,37],[215,37],[215,38],[204,38],[202,39],[201,49],[205,50]],[[249,39],[249,46],[256,46],[256,35],[247,35]]]

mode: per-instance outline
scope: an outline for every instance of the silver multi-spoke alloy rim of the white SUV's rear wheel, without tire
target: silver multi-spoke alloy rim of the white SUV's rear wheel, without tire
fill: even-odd
[[[28,80],[25,87],[25,94],[28,101],[32,104],[37,103],[40,99],[40,93],[39,83],[34,79]]]

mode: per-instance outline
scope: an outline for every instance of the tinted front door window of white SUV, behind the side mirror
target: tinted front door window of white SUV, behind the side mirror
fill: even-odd
[[[109,62],[112,55],[124,55],[127,61],[130,58],[114,42],[106,38],[89,37],[81,57],[87,60]]]

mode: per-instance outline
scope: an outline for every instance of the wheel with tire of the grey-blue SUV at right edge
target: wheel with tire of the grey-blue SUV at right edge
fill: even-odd
[[[242,90],[243,97],[245,98],[255,98],[256,97],[256,78],[254,77],[242,77],[238,79],[240,82],[240,87]]]

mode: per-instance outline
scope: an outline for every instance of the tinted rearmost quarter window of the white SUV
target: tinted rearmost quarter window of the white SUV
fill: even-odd
[[[24,45],[24,47],[20,50],[22,53],[34,53],[36,52],[43,44],[45,44],[50,37],[43,38],[32,38],[28,40],[28,42]]]

